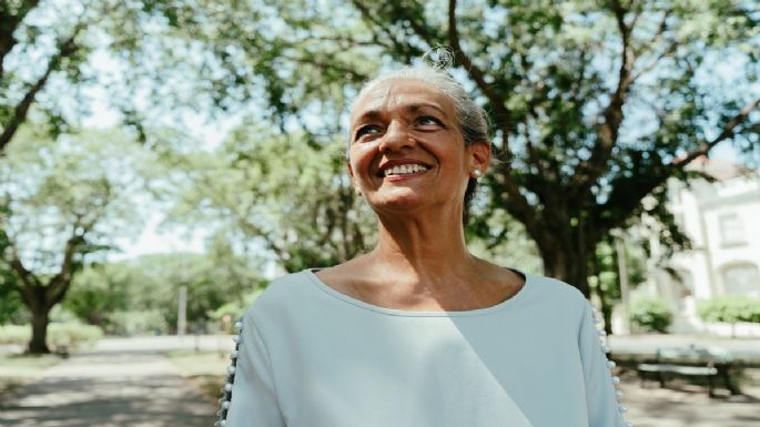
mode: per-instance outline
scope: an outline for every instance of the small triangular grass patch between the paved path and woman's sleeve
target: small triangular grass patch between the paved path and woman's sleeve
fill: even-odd
[[[221,397],[220,389],[230,366],[226,353],[182,349],[169,352],[165,356],[180,375],[193,383],[209,399],[215,403]]]

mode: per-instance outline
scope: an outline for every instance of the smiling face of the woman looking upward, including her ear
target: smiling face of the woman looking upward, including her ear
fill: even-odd
[[[418,80],[378,83],[351,114],[348,172],[378,213],[440,205],[460,212],[472,170],[485,172],[484,150],[487,143],[465,146],[452,102]]]

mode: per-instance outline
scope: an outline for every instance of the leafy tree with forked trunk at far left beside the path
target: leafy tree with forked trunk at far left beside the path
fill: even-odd
[[[2,286],[18,292],[31,314],[34,354],[49,352],[49,314],[74,275],[133,222],[128,195],[138,180],[129,140],[108,132],[59,140],[50,149],[44,131],[29,130],[0,163],[0,263],[13,275]]]

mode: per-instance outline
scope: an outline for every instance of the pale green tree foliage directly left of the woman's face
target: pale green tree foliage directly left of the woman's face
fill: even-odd
[[[242,125],[213,155],[191,153],[182,203],[170,216],[215,223],[235,241],[263,246],[288,272],[365,251],[374,215],[341,175],[342,146],[312,146],[303,138]]]

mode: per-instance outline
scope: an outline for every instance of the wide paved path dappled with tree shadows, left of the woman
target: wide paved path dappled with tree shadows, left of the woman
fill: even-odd
[[[207,427],[216,408],[150,346],[71,356],[0,401],[2,427]]]

